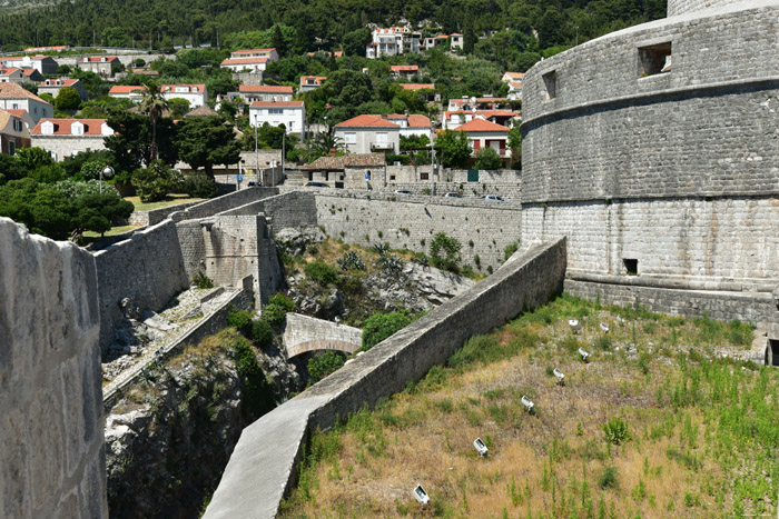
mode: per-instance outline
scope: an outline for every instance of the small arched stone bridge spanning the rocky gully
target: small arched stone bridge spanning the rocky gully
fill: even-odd
[[[284,348],[287,359],[308,351],[337,350],[354,353],[362,345],[363,330],[299,313],[287,313]]]

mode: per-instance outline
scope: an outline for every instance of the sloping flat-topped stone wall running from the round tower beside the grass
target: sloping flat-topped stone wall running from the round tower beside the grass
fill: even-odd
[[[310,431],[402,390],[467,338],[545,302],[561,290],[564,272],[564,239],[517,252],[493,276],[262,417],[241,432],[204,517],[274,517]]]

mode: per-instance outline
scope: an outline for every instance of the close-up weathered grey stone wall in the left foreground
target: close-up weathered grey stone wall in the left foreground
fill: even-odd
[[[101,518],[95,260],[0,218],[0,516]]]

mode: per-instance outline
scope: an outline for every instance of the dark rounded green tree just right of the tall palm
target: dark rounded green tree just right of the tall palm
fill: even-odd
[[[223,117],[185,119],[178,124],[177,143],[181,159],[193,168],[205,168],[211,179],[214,164],[235,164],[240,158],[233,124]]]

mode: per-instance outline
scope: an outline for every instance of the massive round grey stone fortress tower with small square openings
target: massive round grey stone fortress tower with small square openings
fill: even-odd
[[[779,329],[779,1],[669,0],[524,78],[522,241],[565,289]],[[779,363],[779,348],[773,348]]]

